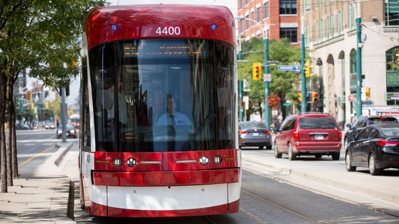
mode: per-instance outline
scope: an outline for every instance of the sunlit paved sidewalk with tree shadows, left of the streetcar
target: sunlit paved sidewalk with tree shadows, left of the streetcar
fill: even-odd
[[[76,223],[68,218],[71,180],[58,168],[72,142],[37,167],[33,178],[14,179],[7,193],[0,193],[1,223]]]

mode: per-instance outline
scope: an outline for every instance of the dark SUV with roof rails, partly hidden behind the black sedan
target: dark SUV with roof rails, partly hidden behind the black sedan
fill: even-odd
[[[374,125],[377,123],[399,123],[395,117],[390,116],[379,116],[379,115],[371,115],[371,116],[360,116],[357,120],[353,122],[353,125],[348,123],[346,127],[348,127],[348,131],[346,131],[344,136],[344,148],[348,146],[350,142],[350,138],[348,136],[356,136],[360,131],[366,126]],[[353,139],[352,138],[352,139]]]

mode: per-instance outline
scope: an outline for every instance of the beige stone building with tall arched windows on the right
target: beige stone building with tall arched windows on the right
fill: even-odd
[[[363,107],[399,105],[391,99],[399,96],[399,70],[390,66],[397,63],[399,47],[397,0],[300,2],[305,46],[311,57],[307,90],[318,92],[319,110],[334,115],[342,126],[356,113],[358,15],[362,26]]]

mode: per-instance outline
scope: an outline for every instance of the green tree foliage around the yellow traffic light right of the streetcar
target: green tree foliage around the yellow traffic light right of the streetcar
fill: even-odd
[[[269,40],[269,61],[279,61],[276,65],[269,66],[272,81],[269,84],[269,95],[276,94],[281,101],[291,99],[296,102],[298,91],[294,84],[300,83],[300,74],[295,71],[279,71],[278,65],[294,65],[300,62],[300,48],[291,46],[288,39]],[[248,96],[252,104],[248,113],[262,114],[260,105],[264,104],[264,82],[252,80],[252,63],[264,64],[264,42],[262,39],[252,38],[241,43],[242,60],[248,62],[238,63],[238,79],[246,80],[246,89],[250,90]],[[264,70],[263,70],[264,71]]]

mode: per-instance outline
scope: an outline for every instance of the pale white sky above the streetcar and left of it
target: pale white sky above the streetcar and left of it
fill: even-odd
[[[143,5],[143,4],[187,4],[187,2],[190,2],[190,4],[193,5],[218,5],[218,6],[227,6],[230,11],[233,13],[234,16],[237,15],[237,1],[236,0],[145,0],[145,1],[132,1],[132,0],[112,0],[109,1],[112,6],[116,5]],[[139,3],[138,3],[139,2]],[[40,81],[37,81],[32,78],[28,78],[27,80],[27,86],[28,89],[32,85],[32,82],[36,83],[41,83]],[[79,86],[80,86],[80,77],[77,77],[76,80],[74,80],[71,85],[70,85],[70,96],[66,98],[66,104],[73,105],[77,101],[78,93],[79,93]]]

